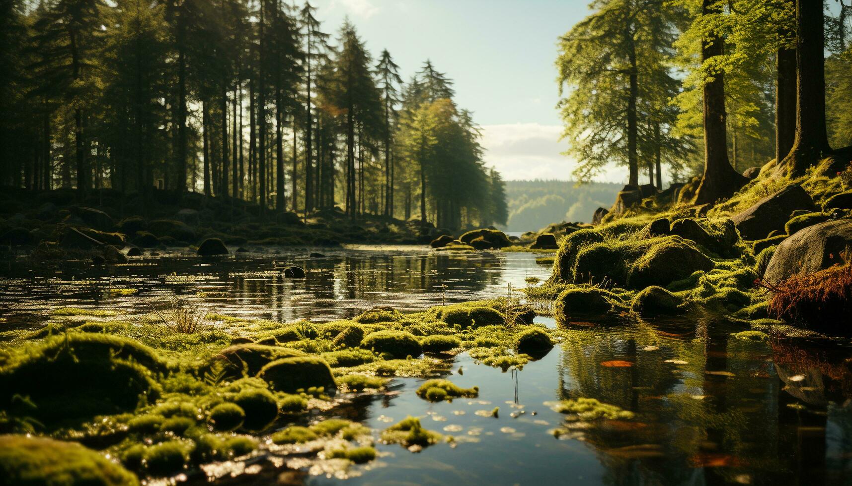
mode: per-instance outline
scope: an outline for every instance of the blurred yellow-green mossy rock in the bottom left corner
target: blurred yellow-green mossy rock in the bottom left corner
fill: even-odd
[[[79,443],[0,436],[0,484],[128,486],[134,474]]]

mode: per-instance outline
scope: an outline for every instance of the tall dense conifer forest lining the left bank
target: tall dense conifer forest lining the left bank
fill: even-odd
[[[4,0],[0,184],[203,192],[312,212],[505,220],[429,60],[403,82],[348,20],[270,0]],[[452,174],[452,176],[450,176]]]

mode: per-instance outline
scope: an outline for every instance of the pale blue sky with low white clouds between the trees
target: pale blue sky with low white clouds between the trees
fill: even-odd
[[[312,0],[337,37],[348,17],[373,56],[388,49],[407,80],[432,60],[483,129],[486,165],[506,180],[568,180],[556,103],[556,43],[589,0]],[[623,170],[600,180],[621,182]]]

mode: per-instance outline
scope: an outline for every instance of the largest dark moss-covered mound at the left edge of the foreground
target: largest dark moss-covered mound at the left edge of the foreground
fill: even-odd
[[[0,409],[29,397],[26,415],[46,424],[133,410],[159,396],[153,371],[164,362],[138,342],[109,334],[69,333],[45,340],[0,369]]]

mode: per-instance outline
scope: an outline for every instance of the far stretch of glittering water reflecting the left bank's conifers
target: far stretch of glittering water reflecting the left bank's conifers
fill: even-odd
[[[302,266],[306,278],[284,277]],[[119,266],[88,262],[32,268],[14,262],[0,277],[0,312],[7,329],[32,326],[44,310],[59,306],[110,306],[147,311],[147,300],[178,294],[229,315],[277,321],[353,317],[371,306],[416,310],[442,302],[504,295],[508,283],[544,279],[550,266],[533,254],[436,254],[420,247],[400,251],[340,249],[324,258],[307,250],[238,255],[222,260],[170,256],[130,259]],[[136,289],[121,295],[111,289]]]

